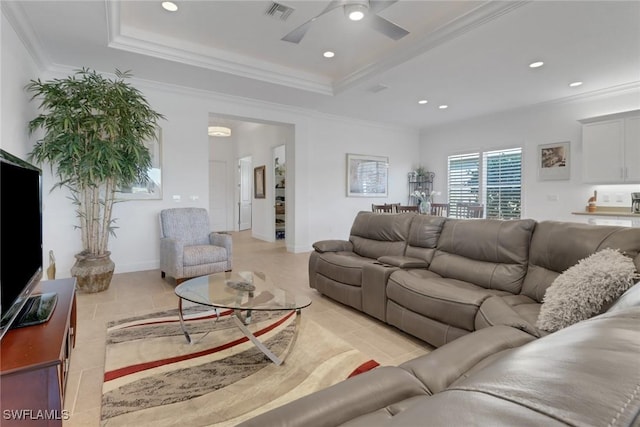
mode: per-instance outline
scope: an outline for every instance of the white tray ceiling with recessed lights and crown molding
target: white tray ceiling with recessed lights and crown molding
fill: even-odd
[[[639,1],[400,0],[379,12],[410,32],[398,41],[337,8],[299,44],[281,38],[329,1],[279,1],[294,9],[286,20],[265,15],[271,1],[176,3],[175,13],[155,0],[1,5],[47,68],[131,70],[141,79],[416,128],[640,88]],[[325,50],[336,56],[323,58]],[[534,60],[545,65],[530,69]],[[569,88],[576,80],[584,84]]]

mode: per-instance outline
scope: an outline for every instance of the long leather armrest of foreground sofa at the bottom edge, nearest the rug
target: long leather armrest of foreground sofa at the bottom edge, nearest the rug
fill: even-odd
[[[272,409],[239,426],[337,426],[414,396],[424,385],[397,367],[376,368]]]

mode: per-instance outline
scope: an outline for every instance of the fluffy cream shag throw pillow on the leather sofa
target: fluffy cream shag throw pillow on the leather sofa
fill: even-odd
[[[599,314],[635,277],[631,258],[614,249],[598,251],[556,277],[544,295],[536,326],[554,332]]]

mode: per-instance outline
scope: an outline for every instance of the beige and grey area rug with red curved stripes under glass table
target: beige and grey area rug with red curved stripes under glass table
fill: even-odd
[[[108,325],[102,426],[233,426],[378,365],[304,314],[281,366],[242,335],[230,311],[217,321],[211,311],[187,318],[195,344],[176,310]],[[280,355],[294,319],[254,312],[250,329]]]

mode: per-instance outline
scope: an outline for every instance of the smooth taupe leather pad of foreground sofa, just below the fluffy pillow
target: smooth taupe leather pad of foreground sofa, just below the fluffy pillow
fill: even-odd
[[[493,326],[453,340],[429,354],[403,363],[432,394],[439,393],[487,357],[536,338],[509,326]]]

